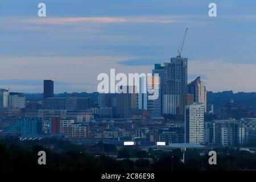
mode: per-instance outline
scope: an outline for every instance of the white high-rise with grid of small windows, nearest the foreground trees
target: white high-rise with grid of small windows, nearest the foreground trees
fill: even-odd
[[[204,144],[204,104],[185,107],[185,143]]]

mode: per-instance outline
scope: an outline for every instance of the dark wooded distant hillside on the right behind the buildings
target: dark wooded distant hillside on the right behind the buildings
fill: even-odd
[[[224,92],[208,92],[208,103],[214,104],[214,107],[218,109],[222,105],[226,105],[230,100],[234,101],[235,105],[241,105],[246,107],[256,108],[256,93],[245,93],[238,92],[233,93],[233,91]]]

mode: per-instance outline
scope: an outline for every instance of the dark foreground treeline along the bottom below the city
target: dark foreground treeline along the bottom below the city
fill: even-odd
[[[209,165],[208,154],[200,155],[197,150],[183,153],[179,150],[164,152],[144,151],[137,147],[117,148],[111,144],[98,143],[99,154],[90,154],[88,147],[60,139],[24,140],[4,138],[0,141],[0,171],[191,171],[191,170],[255,170],[256,154],[235,148],[215,148],[217,165]],[[46,151],[46,165],[38,164],[38,152]],[[107,154],[116,154],[117,159]],[[122,158],[122,159],[121,159]],[[124,158],[124,159],[123,159]],[[138,158],[138,160],[131,160]]]

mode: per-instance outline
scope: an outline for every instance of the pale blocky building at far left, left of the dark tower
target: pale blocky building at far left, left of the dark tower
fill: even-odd
[[[26,97],[21,93],[10,92],[8,105],[10,107],[23,109],[26,107]]]

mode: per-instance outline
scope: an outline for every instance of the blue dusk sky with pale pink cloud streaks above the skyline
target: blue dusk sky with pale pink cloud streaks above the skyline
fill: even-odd
[[[38,4],[46,4],[46,17]],[[217,17],[209,17],[209,3]],[[1,0],[0,88],[94,92],[99,73],[151,73],[183,57],[207,90],[256,92],[254,0]]]

